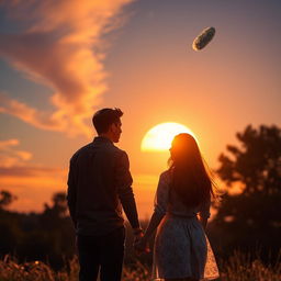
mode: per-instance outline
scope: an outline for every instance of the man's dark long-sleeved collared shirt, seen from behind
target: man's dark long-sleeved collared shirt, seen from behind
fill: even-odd
[[[105,235],[124,224],[139,227],[128,157],[105,137],[95,137],[70,159],[67,201],[76,232]],[[122,204],[122,205],[121,205]]]

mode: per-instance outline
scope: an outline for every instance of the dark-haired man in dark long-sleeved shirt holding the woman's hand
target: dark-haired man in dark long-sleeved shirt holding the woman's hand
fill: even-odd
[[[142,236],[132,190],[128,158],[113,145],[120,139],[120,109],[98,111],[93,142],[70,159],[67,201],[77,233],[80,281],[120,281],[125,228],[122,206],[135,239]],[[121,206],[122,205],[122,206]]]

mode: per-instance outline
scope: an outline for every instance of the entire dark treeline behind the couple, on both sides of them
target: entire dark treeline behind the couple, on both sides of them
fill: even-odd
[[[207,234],[220,258],[226,259],[239,249],[274,263],[281,248],[281,130],[249,125],[236,136],[240,145],[226,147],[216,172],[229,186],[227,190],[238,183],[243,191],[226,192],[221,198]],[[65,193],[54,194],[42,213],[10,212],[7,207],[13,199],[9,192],[0,193],[0,255],[11,254],[20,262],[42,260],[54,269],[67,266],[76,249]],[[144,228],[146,224],[142,222]],[[127,227],[125,263],[134,263],[136,257],[132,240]],[[140,260],[150,265],[151,254]]]

